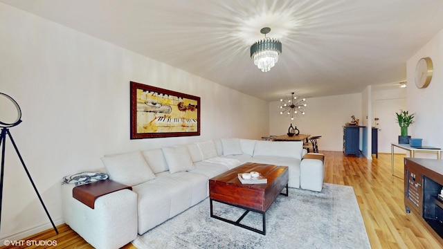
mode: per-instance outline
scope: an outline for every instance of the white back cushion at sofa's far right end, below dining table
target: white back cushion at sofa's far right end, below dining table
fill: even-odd
[[[255,142],[254,156],[283,156],[302,159],[303,142]]]

